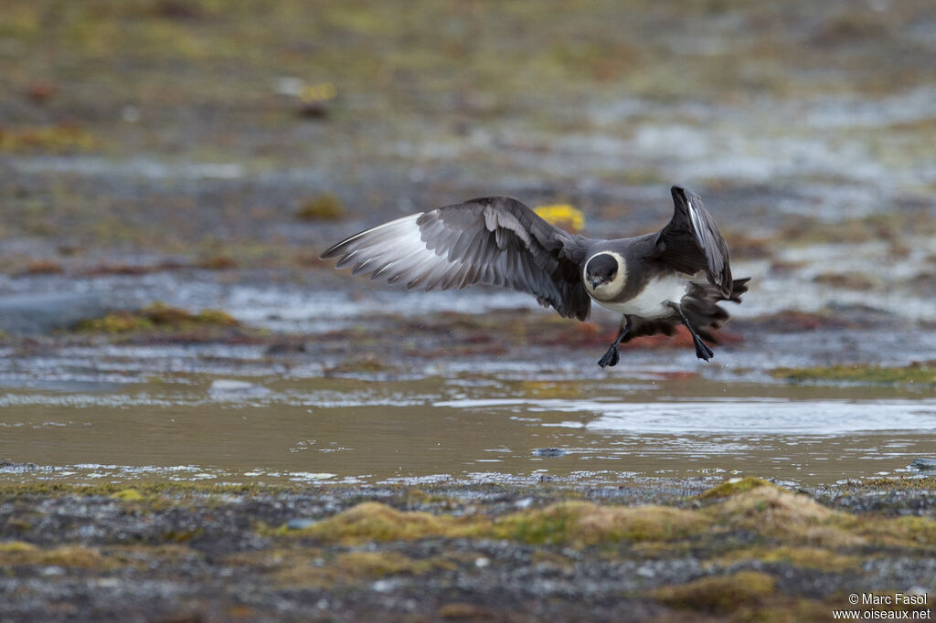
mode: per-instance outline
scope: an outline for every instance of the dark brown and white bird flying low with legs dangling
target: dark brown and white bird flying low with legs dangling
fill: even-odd
[[[702,199],[680,186],[670,191],[673,218],[635,238],[569,234],[517,199],[489,196],[377,225],[321,256],[407,289],[513,288],[578,320],[588,319],[594,301],[622,314],[602,368],[620,361],[622,341],[671,336],[680,325],[708,361],[714,353],[706,342],[716,342],[712,331],[728,319],[718,303],[740,303],[750,278],[732,279],[728,245]]]

